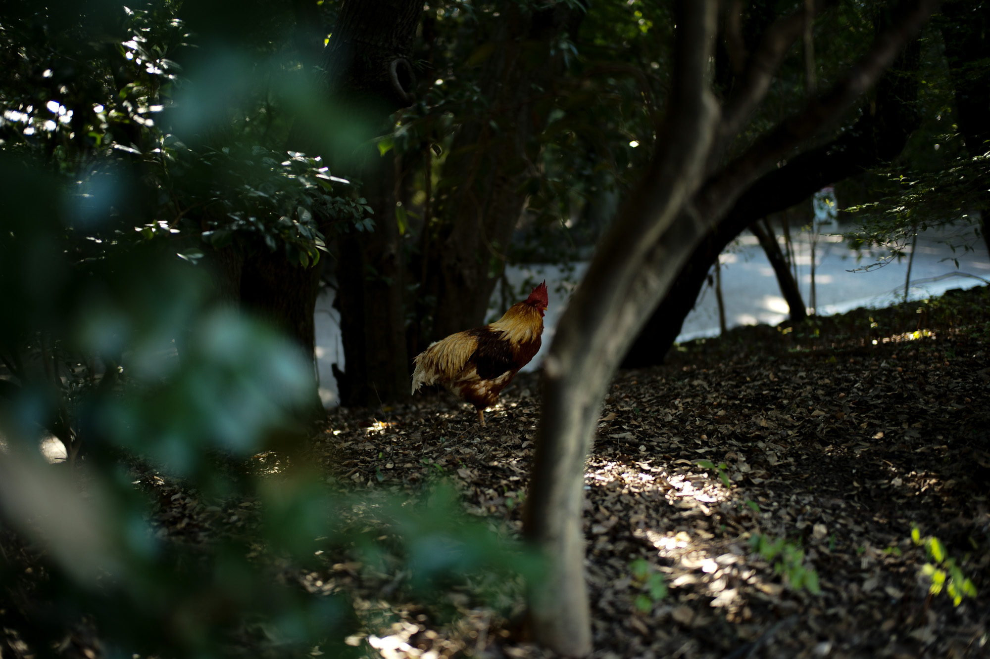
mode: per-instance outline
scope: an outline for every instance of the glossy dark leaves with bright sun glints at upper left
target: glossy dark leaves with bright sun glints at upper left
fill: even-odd
[[[331,227],[319,218],[343,231],[371,230],[370,209],[347,180],[320,158],[268,145],[279,141],[271,127],[284,123],[286,89],[248,93],[232,113],[206,93],[213,80],[201,70],[193,80],[179,77],[176,59],[188,57],[190,35],[172,5],[127,9],[121,18],[95,46],[63,43],[42,12],[5,26],[8,51],[26,56],[12,62],[17,68],[0,90],[4,150],[75,179],[85,201],[79,212],[94,217],[119,212],[124,191],[112,182],[121,172],[135,176],[130,185],[139,189],[129,195],[145,197],[135,200],[145,216],[141,235],[167,237],[193,260],[201,247],[234,244],[242,253],[281,250],[309,267]],[[79,70],[79,60],[88,70]],[[235,73],[248,90],[270,83],[264,69]],[[204,124],[238,114],[230,128]],[[210,131],[216,137],[204,141]]]

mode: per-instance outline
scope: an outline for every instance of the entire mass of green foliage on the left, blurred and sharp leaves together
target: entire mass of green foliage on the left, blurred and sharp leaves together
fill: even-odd
[[[5,560],[0,609],[26,616],[18,631],[40,652],[86,620],[111,655],[226,655],[246,629],[266,653],[355,654],[347,597],[291,577],[319,555],[405,574],[426,603],[451,583],[535,572],[443,491],[357,523],[319,474],[252,466],[272,451],[299,464],[284,451],[305,441],[312,366],[218,304],[195,264],[232,248],[313,267],[333,233],[373,222],[356,181],[285,148],[288,117],[312,99],[271,55],[284,43],[218,54],[204,16],[193,37],[177,8],[15,3],[0,24],[0,514],[44,574],[26,583]],[[218,62],[227,86],[211,87]],[[41,462],[45,429],[72,469]],[[156,525],[160,482],[173,501],[253,502],[261,519],[186,542]],[[30,601],[11,595],[23,588]]]

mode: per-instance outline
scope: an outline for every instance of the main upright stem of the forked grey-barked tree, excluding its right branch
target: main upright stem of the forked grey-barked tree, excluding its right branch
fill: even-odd
[[[674,82],[660,150],[604,236],[545,360],[526,534],[551,562],[545,583],[531,595],[530,614],[538,642],[565,656],[591,651],[582,486],[604,390],[626,337],[644,320],[643,305],[669,284],[662,264],[682,258],[703,235],[700,218],[678,214],[701,184],[718,117],[707,82],[717,9],[717,0],[678,4]]]

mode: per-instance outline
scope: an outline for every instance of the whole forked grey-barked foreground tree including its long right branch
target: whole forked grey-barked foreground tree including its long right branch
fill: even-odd
[[[544,411],[525,522],[549,559],[530,594],[537,640],[558,654],[591,650],[581,533],[584,465],[605,389],[709,223],[782,154],[838,121],[934,9],[919,0],[825,96],[771,130],[705,182],[719,109],[708,83],[717,0],[677,3],[671,104],[643,183],[623,206],[571,299],[545,359]]]

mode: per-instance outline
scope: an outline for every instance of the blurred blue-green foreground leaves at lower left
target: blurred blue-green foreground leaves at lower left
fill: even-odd
[[[322,644],[344,656],[356,651],[343,639],[358,624],[346,597],[311,595],[291,579],[279,585],[276,565],[304,569],[326,552],[410,575],[409,595],[426,603],[481,568],[496,585],[520,570],[535,577],[519,547],[464,519],[444,488],[424,507],[385,499],[371,523],[357,523],[348,519],[358,500],[319,474],[250,469],[244,461],[258,451],[298,443],[293,409],[311,376],[297,349],[216,307],[202,269],[156,240],[122,239],[99,259],[73,258],[62,246],[75,228],[72,185],[11,166],[2,180],[0,283],[16,305],[2,352],[15,370],[24,364],[25,377],[0,392],[8,399],[0,433],[10,444],[0,455],[0,502],[5,519],[51,557],[37,597],[59,603],[35,612],[35,631],[85,617],[114,652],[219,656],[254,620],[266,625],[269,650]],[[38,379],[52,352],[33,347],[46,343],[56,377]],[[71,471],[52,472],[31,450],[59,400],[72,435],[85,439],[85,499]],[[254,502],[261,522],[211,547],[171,540],[149,519],[149,470],[159,481],[180,479],[175,496]],[[2,577],[12,588],[22,578]],[[501,592],[484,588],[479,596]]]

